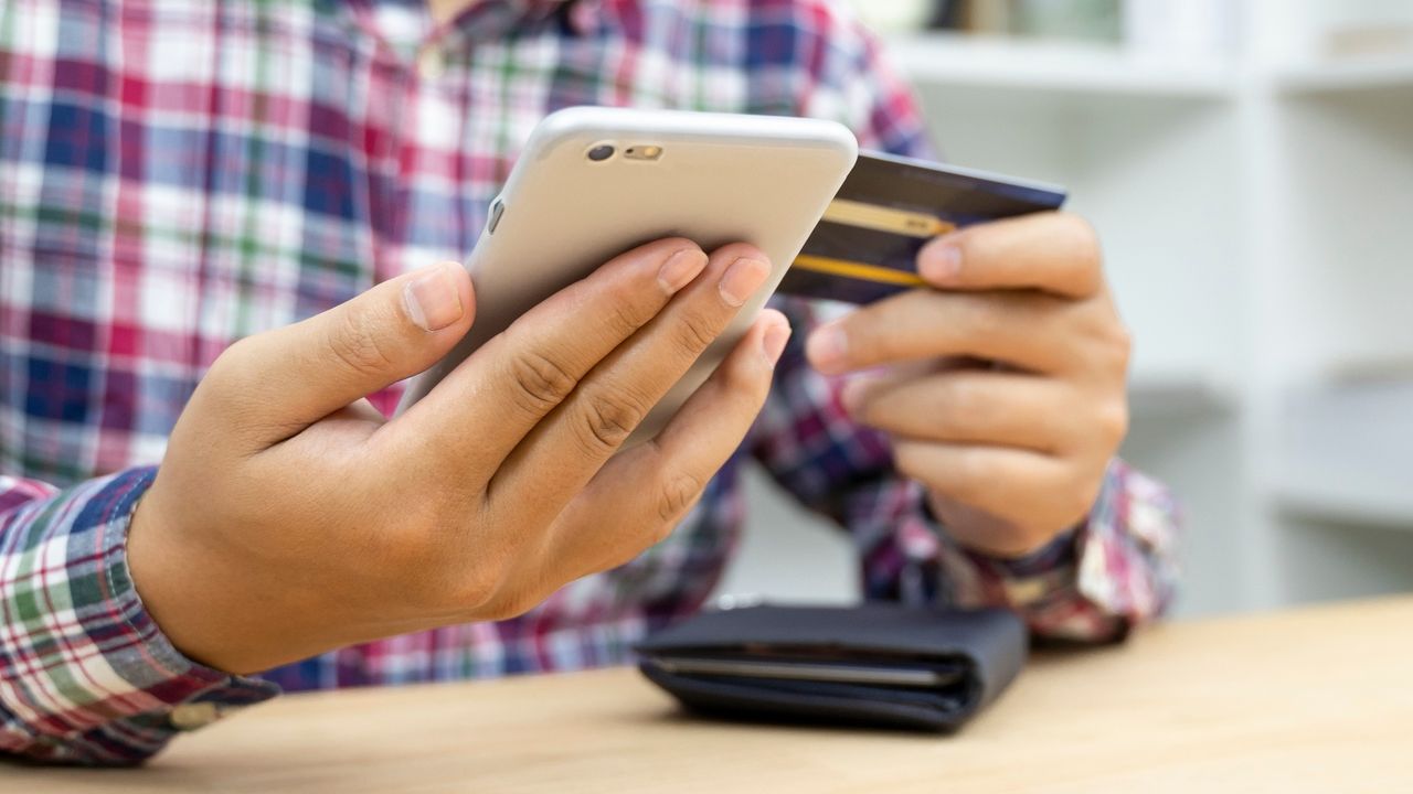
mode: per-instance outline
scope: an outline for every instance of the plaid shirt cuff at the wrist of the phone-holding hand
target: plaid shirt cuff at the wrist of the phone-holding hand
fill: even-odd
[[[25,509],[0,562],[16,574],[0,653],[0,750],[34,760],[136,763],[172,736],[266,701],[273,684],[187,658],[143,608],[127,528],[155,476],[133,469]],[[18,616],[11,620],[10,616]]]

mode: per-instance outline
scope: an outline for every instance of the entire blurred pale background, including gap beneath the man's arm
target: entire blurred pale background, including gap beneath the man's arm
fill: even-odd
[[[1413,589],[1413,3],[853,3],[950,162],[1098,227],[1177,615]],[[719,593],[852,599],[846,537],[755,475]]]

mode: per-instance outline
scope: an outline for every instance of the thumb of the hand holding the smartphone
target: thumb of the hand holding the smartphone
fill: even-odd
[[[235,379],[261,420],[302,428],[437,363],[466,335],[473,314],[466,270],[432,264],[242,340],[229,350],[235,360],[223,377]]]

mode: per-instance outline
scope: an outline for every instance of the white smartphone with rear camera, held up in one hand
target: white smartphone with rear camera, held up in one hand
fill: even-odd
[[[817,119],[569,107],[534,129],[466,263],[476,321],[408,383],[398,413],[517,316],[601,264],[661,237],[704,250],[752,243],[773,273],[649,413],[651,438],[755,321],[858,157],[848,127]]]

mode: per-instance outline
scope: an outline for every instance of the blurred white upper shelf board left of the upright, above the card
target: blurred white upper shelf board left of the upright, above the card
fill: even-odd
[[[1113,45],[927,34],[893,37],[887,49],[924,86],[1215,100],[1229,97],[1234,83],[1221,64],[1164,61]]]

